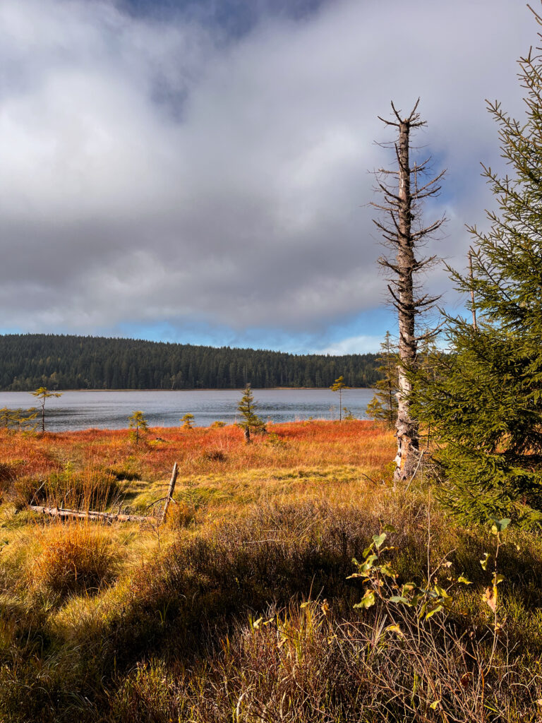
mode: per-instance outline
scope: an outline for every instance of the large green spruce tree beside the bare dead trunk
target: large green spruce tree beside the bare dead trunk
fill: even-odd
[[[447,319],[450,354],[413,395],[439,443],[442,498],[463,521],[542,518],[542,57],[520,59],[519,77],[523,121],[489,103],[510,166],[483,168],[499,210],[489,231],[470,228],[472,272],[450,270],[476,317]]]

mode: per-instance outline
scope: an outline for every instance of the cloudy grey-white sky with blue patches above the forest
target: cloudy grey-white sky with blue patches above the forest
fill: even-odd
[[[377,116],[420,98],[424,252],[465,268],[485,99],[521,118],[537,31],[519,0],[1,0],[0,333],[377,351]],[[460,312],[443,264],[422,283]]]

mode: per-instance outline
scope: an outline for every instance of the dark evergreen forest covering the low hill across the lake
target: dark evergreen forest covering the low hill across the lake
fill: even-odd
[[[0,388],[350,387],[379,379],[377,354],[285,354],[223,346],[52,334],[0,335]]]

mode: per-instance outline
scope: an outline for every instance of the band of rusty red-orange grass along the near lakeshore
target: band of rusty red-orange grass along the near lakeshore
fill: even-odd
[[[17,476],[42,476],[72,463],[83,470],[126,466],[143,479],[163,479],[177,461],[183,474],[298,466],[383,466],[390,461],[392,433],[374,422],[270,424],[268,435],[244,444],[234,425],[222,428],[154,427],[139,445],[129,430],[13,434],[0,431],[0,463]]]

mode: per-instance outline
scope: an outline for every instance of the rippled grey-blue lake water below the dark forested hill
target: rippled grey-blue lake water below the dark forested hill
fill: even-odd
[[[46,429],[124,429],[133,411],[141,409],[150,427],[178,427],[179,418],[190,412],[197,426],[207,427],[220,419],[231,424],[238,419],[242,390],[175,391],[70,391],[46,401]],[[358,419],[366,417],[373,389],[343,392],[343,407]],[[329,389],[254,389],[257,414],[273,422],[300,419],[338,419],[339,395]],[[36,406],[30,392],[0,392],[0,408],[26,409]]]

